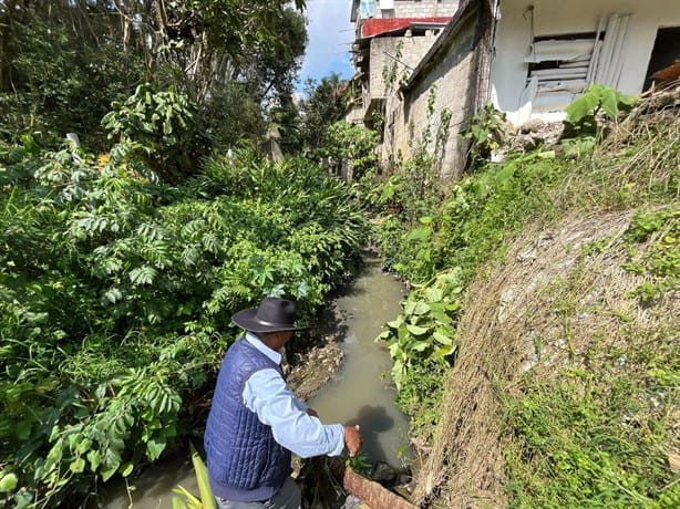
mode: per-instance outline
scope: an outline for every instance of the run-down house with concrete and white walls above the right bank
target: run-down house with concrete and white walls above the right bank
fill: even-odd
[[[363,3],[352,10],[361,90],[352,118],[381,128],[384,162],[425,149],[444,178],[462,172],[467,142],[459,133],[488,101],[515,126],[560,121],[589,84],[639,94],[680,61],[677,0],[432,1],[423,18],[445,18],[437,9],[447,6],[445,24],[412,19],[390,29],[380,24],[382,2],[373,11]]]

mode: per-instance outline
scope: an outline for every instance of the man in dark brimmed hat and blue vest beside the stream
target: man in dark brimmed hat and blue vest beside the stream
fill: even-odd
[[[298,509],[291,451],[350,456],[361,448],[359,426],[324,425],[286,385],[280,350],[296,326],[295,304],[267,298],[231,316],[244,337],[219,370],[205,432],[208,475],[220,509]]]

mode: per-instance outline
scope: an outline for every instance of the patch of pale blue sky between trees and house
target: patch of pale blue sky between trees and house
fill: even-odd
[[[352,0],[307,0],[309,43],[300,71],[300,89],[307,77],[320,80],[331,71],[342,77],[353,74],[350,46],[354,27],[350,22]]]

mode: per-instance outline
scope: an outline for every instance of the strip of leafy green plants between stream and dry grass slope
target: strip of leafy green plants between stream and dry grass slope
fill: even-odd
[[[430,423],[419,432],[425,437],[436,423],[432,416],[437,414],[439,401],[433,398],[432,387],[437,380],[441,386],[444,367],[455,360],[455,328],[464,289],[484,261],[503,256],[506,235],[518,231],[529,217],[555,215],[547,190],[567,170],[568,165],[552,152],[488,165],[452,186],[430,215],[420,217],[405,232],[401,221],[408,216],[403,210],[422,214],[437,198],[430,195],[413,200],[420,193],[413,190],[418,180],[405,176],[392,177],[384,185],[383,193],[390,196],[385,206],[398,214],[381,224],[380,246],[392,268],[414,289],[402,303],[403,314],[388,324],[390,330],[381,339],[395,361],[392,374],[400,386],[402,408],[416,409],[415,414],[409,412],[416,427],[418,423]],[[400,187],[392,193],[394,181]],[[409,370],[423,362],[430,367]],[[421,412],[427,417],[421,417]]]

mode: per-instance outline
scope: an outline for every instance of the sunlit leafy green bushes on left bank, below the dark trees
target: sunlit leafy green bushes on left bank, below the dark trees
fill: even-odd
[[[349,185],[305,159],[240,150],[173,187],[143,147],[0,152],[6,503],[158,458],[192,432],[231,313],[286,295],[309,319],[365,241]]]

